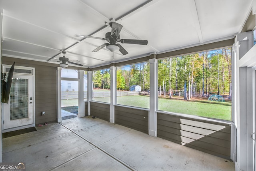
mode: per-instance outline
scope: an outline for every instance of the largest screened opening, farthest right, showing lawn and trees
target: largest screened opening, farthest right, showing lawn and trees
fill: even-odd
[[[232,120],[231,48],[158,60],[158,110]]]

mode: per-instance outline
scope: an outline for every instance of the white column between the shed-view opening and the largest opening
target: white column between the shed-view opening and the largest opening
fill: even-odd
[[[150,111],[148,117],[148,134],[157,136],[157,60],[149,60],[150,63]]]

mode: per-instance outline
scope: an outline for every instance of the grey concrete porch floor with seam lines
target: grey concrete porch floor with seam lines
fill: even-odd
[[[3,139],[3,162],[27,171],[234,171],[234,163],[92,117]]]

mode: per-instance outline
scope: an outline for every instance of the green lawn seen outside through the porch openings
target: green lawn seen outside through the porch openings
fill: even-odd
[[[109,97],[98,97],[94,98],[93,100],[110,103]],[[66,103],[64,102],[65,100],[62,101],[63,103]],[[72,100],[68,101],[71,102]],[[120,105],[128,105],[149,109],[148,96],[135,95],[117,97],[116,103]],[[197,115],[202,117],[210,117],[215,119],[224,119],[229,121],[232,120],[230,102],[216,102],[208,100],[184,101],[182,99],[158,98],[158,110],[170,111],[174,113],[183,113],[188,115]]]

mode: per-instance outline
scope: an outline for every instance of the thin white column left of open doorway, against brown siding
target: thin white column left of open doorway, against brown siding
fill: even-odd
[[[61,121],[61,67],[57,67],[57,122]]]

